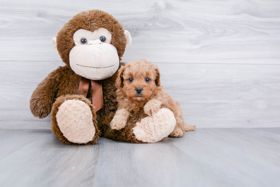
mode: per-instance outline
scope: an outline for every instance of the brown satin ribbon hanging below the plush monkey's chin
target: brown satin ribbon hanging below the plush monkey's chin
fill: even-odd
[[[102,81],[93,81],[85,77],[81,77],[79,85],[79,95],[87,97],[87,92],[89,91],[89,82],[91,81],[92,89],[92,104],[95,107],[94,112],[97,112],[103,108],[103,92],[102,92]]]

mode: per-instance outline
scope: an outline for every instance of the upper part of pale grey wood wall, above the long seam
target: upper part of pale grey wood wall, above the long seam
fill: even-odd
[[[2,1],[0,61],[60,61],[51,39],[77,13],[101,9],[130,31],[123,61],[279,64],[280,1]]]

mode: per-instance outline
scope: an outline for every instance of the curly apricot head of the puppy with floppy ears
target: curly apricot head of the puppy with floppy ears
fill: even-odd
[[[157,86],[160,86],[160,73],[157,66],[146,60],[133,60],[121,66],[116,87],[133,100],[149,99]]]

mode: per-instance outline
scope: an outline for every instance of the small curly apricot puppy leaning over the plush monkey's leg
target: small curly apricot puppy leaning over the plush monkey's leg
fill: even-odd
[[[118,109],[110,123],[112,129],[125,127],[130,116],[153,116],[160,108],[170,109],[176,119],[171,137],[181,137],[185,131],[195,130],[195,126],[186,125],[180,104],[174,101],[160,85],[160,73],[157,66],[141,59],[126,63],[118,71],[116,81]]]

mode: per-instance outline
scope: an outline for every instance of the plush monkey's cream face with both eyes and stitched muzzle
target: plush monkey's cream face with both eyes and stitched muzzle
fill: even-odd
[[[73,35],[75,47],[69,53],[72,70],[91,80],[111,77],[119,68],[119,55],[105,28],[94,32],[79,29]]]

